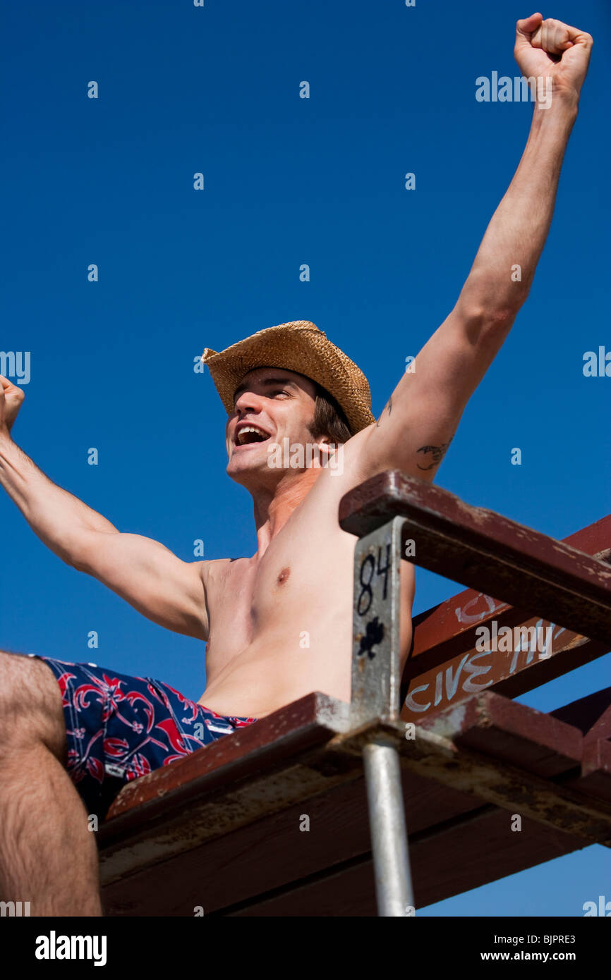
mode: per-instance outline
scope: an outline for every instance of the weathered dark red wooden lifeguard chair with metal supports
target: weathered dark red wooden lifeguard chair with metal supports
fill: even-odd
[[[611,846],[611,687],[512,701],[611,650],[611,515],[557,541],[387,472],[339,522],[351,703],[310,694],[129,783],[98,835],[107,915],[407,916]],[[400,677],[406,557],[468,588],[415,617]]]

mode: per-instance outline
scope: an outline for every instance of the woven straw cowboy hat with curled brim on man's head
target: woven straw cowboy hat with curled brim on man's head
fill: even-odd
[[[322,385],[343,409],[353,435],[376,420],[365,374],[309,319],[258,330],[219,354],[207,347],[201,359],[228,415],[244,374],[253,368],[285,368]]]

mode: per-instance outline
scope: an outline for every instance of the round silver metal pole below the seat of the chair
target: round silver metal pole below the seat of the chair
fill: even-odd
[[[363,749],[378,914],[414,915],[401,766],[396,748],[370,742]]]

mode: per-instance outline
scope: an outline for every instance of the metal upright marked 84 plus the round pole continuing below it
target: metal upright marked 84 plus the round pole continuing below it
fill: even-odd
[[[354,551],[351,715],[355,725],[399,716],[401,534],[394,517]],[[363,748],[379,915],[413,915],[399,754],[380,734]]]

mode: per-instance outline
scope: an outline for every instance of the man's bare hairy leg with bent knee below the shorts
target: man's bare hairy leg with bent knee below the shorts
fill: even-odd
[[[43,661],[0,651],[0,900],[101,915],[95,834],[65,768],[62,696]]]

